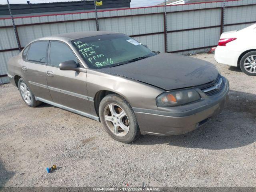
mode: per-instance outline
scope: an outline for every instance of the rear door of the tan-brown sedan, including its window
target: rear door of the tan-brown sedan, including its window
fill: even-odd
[[[36,97],[52,101],[46,81],[48,40],[28,45],[22,55],[22,75]]]

